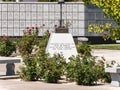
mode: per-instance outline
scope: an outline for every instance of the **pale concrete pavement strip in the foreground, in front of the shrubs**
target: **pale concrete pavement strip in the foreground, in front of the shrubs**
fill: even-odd
[[[45,82],[25,82],[20,79],[0,80],[0,90],[120,90],[110,84],[79,86],[75,83],[49,84]]]

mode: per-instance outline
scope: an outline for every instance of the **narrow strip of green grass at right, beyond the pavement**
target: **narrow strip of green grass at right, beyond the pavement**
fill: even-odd
[[[90,45],[92,49],[120,50],[120,44]]]

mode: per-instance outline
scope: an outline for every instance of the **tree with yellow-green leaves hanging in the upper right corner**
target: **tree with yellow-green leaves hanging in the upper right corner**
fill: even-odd
[[[112,38],[120,39],[120,0],[83,0],[85,5],[96,5],[103,9],[106,18],[112,18],[116,23],[116,27],[112,23],[105,25],[92,24],[89,31],[95,33],[103,33],[104,39]]]

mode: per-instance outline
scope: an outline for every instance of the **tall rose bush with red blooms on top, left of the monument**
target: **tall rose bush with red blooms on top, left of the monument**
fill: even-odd
[[[20,68],[19,75],[23,80],[35,81],[45,79],[46,70],[49,66],[49,55],[45,53],[50,36],[47,31],[42,39],[38,39],[38,27],[27,27],[24,36],[18,44],[24,66]]]

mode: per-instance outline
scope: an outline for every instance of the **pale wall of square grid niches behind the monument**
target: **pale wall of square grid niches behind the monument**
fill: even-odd
[[[87,37],[91,43],[104,42],[100,34],[88,32],[89,24],[113,22],[112,19],[104,17],[102,9],[95,6],[86,7],[83,2],[66,2],[62,8],[64,25],[70,23],[69,33],[74,38]],[[21,37],[26,27],[45,24],[40,29],[41,37],[46,30],[54,31],[54,26],[59,26],[59,20],[60,5],[57,2],[0,3],[0,36]]]

